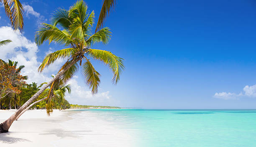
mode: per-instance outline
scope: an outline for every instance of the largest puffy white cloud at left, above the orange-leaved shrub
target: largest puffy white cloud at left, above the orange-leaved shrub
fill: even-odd
[[[42,83],[50,80],[50,77],[37,72],[40,62],[37,60],[38,47],[36,43],[28,40],[11,27],[0,27],[0,32],[0,40],[13,40],[8,45],[0,47],[0,59],[5,61],[10,59],[18,61],[18,65],[25,65],[25,68],[21,70],[21,74],[28,75],[27,83]]]

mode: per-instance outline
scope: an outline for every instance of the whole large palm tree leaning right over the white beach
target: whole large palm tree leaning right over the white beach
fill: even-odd
[[[54,78],[36,92],[8,120],[0,124],[0,132],[8,132],[15,118],[31,102],[36,100],[47,87],[50,86],[51,91],[55,80],[60,78],[63,83],[68,82],[77,73],[79,66],[82,66],[82,74],[84,75],[86,85],[92,90],[93,94],[96,94],[100,84],[100,74],[93,67],[90,58],[100,60],[110,67],[114,75],[114,84],[120,78],[120,73],[124,69],[123,59],[111,52],[91,48],[96,42],[108,43],[111,32],[108,27],[105,27],[92,34],[91,28],[94,22],[94,12],[92,11],[89,14],[87,5],[83,0],[77,1],[69,10],[61,8],[56,10],[51,17],[51,22],[52,24],[42,24],[42,27],[36,32],[35,42],[37,45],[41,45],[46,40],[49,42],[54,41],[67,48],[48,54],[38,68],[38,71],[42,72],[45,67],[48,67],[57,59],[67,59],[67,62],[60,68]],[[57,26],[60,26],[63,30],[60,30]]]

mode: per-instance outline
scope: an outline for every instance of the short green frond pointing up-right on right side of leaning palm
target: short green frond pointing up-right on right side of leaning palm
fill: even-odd
[[[87,45],[90,47],[92,46],[95,42],[103,42],[103,43],[108,43],[111,37],[111,32],[108,27],[104,27],[98,32],[95,32],[88,40],[86,40]]]

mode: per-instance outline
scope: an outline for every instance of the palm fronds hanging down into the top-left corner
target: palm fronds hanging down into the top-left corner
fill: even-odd
[[[0,0],[5,7],[5,13],[9,17],[14,30],[23,31],[23,6],[19,0]]]

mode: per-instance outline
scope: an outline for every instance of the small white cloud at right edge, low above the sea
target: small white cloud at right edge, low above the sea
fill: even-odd
[[[248,86],[246,85],[243,88],[243,92],[240,92],[239,94],[236,93],[230,93],[230,92],[216,92],[213,97],[220,98],[224,100],[230,100],[230,99],[238,99],[238,97],[256,97],[256,85]]]

